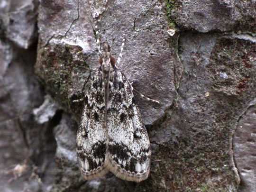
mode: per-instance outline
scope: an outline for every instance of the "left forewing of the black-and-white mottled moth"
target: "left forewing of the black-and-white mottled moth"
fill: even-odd
[[[76,151],[79,168],[86,180],[103,176],[109,170],[105,166],[107,132],[104,125],[104,91],[101,71],[96,72],[84,99],[82,121],[77,131]]]

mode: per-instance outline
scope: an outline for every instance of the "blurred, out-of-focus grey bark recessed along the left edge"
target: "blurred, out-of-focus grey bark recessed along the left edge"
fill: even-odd
[[[49,97],[38,108],[44,91],[34,72],[37,9],[37,1],[0,1],[1,192],[44,190],[54,177],[52,128],[60,117],[53,118]]]

